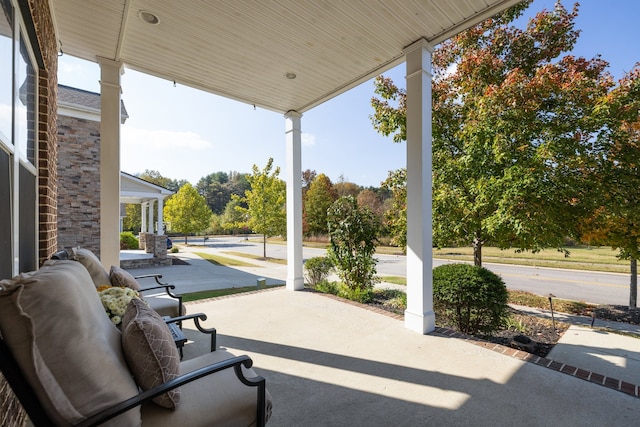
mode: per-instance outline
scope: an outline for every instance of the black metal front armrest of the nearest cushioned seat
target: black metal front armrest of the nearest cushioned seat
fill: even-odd
[[[255,378],[246,378],[242,372],[242,367],[251,368],[253,365],[253,361],[249,356],[238,356],[233,357],[222,362],[214,363],[209,366],[205,366],[203,368],[197,369],[193,372],[189,372],[184,375],[180,375],[177,378],[174,378],[170,381],[167,381],[163,384],[160,384],[157,387],[152,389],[143,391],[142,393],[127,399],[123,402],[120,402],[110,408],[107,408],[87,419],[82,421],[81,423],[76,424],[79,427],[88,427],[88,426],[96,426],[102,424],[126,411],[129,409],[135,408],[136,406],[140,406],[143,402],[147,402],[154,397],[157,397],[163,393],[166,393],[169,390],[173,390],[174,388],[180,387],[181,385],[188,384],[192,381],[198,380],[200,378],[206,377],[213,373],[222,371],[224,369],[233,368],[236,377],[240,382],[248,387],[257,387],[257,413],[256,420],[258,426],[264,426],[266,423],[265,415],[266,415],[266,380],[262,376],[256,376]]]

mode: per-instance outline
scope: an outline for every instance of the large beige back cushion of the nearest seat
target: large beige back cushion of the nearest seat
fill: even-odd
[[[0,281],[0,332],[56,425],[138,393],[89,273],[56,261]],[[138,408],[106,425],[140,425]]]

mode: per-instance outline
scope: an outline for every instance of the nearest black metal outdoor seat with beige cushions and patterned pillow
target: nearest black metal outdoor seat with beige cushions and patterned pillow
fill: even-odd
[[[0,281],[0,368],[34,425],[264,425],[271,397],[247,356],[180,361],[160,316],[135,300],[121,330],[70,260]]]

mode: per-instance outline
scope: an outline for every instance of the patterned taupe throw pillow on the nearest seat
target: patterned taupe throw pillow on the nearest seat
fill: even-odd
[[[138,298],[131,300],[122,320],[122,349],[133,378],[143,390],[179,375],[180,356],[169,327]],[[180,390],[173,389],[153,401],[175,409]]]

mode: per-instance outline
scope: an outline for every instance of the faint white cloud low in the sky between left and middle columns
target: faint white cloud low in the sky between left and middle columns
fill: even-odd
[[[122,127],[122,141],[130,147],[151,150],[203,151],[212,146],[195,132],[136,129],[127,126]]]

